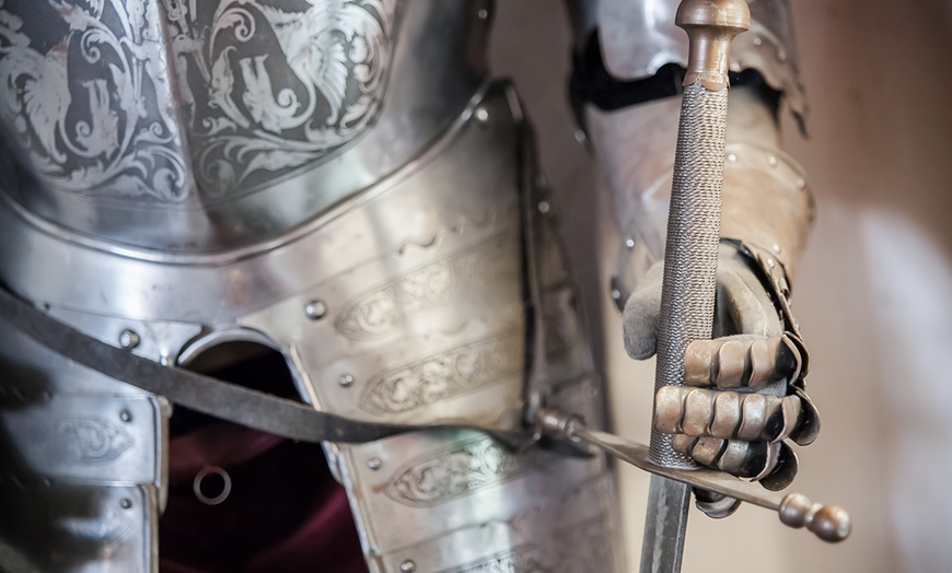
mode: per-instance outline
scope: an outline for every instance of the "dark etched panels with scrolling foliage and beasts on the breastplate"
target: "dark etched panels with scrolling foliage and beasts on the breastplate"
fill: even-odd
[[[230,195],[372,124],[395,4],[0,0],[0,117],[56,189]]]

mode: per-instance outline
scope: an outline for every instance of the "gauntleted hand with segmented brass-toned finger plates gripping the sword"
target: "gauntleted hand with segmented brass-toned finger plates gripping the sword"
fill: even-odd
[[[782,489],[797,472],[785,440],[809,444],[820,422],[803,391],[805,348],[773,266],[773,258],[721,243],[716,338],[687,347],[685,386],[658,390],[654,429],[704,466]],[[625,304],[625,344],[638,360],[655,351],[662,274],[663,262],[654,264]]]

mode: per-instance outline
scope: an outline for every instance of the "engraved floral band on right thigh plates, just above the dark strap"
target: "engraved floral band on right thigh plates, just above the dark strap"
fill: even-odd
[[[378,414],[402,413],[522,373],[520,331],[479,340],[374,377],[360,407]]]

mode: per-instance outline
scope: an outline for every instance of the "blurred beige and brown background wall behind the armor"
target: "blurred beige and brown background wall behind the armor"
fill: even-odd
[[[794,489],[847,506],[856,529],[825,546],[757,508],[723,522],[695,512],[684,571],[952,571],[952,7],[791,3],[812,113],[810,141],[789,121],[786,141],[820,211],[794,311],[824,414],[821,440],[801,451]],[[592,323],[616,429],[645,440],[653,366],[624,356],[617,317],[597,307],[618,242],[572,137],[562,7],[500,0],[495,25],[495,70],[515,78],[535,120],[590,308],[605,311]],[[647,478],[623,468],[620,483],[637,558]]]

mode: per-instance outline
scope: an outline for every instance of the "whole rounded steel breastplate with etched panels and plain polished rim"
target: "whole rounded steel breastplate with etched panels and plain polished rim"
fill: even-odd
[[[0,10],[3,192],[101,249],[282,235],[418,156],[484,81],[487,7],[267,0]],[[439,33],[432,33],[439,31]]]

